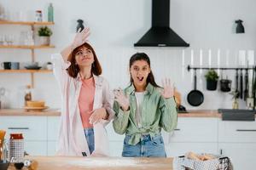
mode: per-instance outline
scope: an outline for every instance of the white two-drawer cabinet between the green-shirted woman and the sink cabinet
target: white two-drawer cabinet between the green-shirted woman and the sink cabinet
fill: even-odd
[[[218,118],[179,117],[172,133],[162,131],[167,156],[218,152]]]

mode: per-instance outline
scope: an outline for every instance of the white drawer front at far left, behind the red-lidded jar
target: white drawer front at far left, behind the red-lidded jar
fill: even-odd
[[[23,133],[25,140],[47,140],[47,117],[46,116],[0,116],[0,129],[9,133]]]

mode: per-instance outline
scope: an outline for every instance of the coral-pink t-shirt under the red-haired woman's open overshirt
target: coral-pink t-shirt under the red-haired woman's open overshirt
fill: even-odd
[[[89,118],[93,110],[93,102],[95,95],[95,82],[94,78],[82,79],[82,87],[79,94],[79,110],[84,128],[91,128]]]

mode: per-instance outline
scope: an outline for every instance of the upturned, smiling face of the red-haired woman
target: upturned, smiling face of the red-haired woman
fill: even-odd
[[[79,66],[90,66],[94,62],[94,56],[89,48],[81,47],[75,54],[76,63]]]

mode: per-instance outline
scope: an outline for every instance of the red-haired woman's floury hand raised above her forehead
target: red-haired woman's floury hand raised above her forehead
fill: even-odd
[[[78,48],[80,45],[86,42],[89,35],[90,35],[90,29],[88,27],[84,28],[83,31],[81,31],[81,28],[79,28],[78,33],[73,39],[72,48],[73,49]]]

